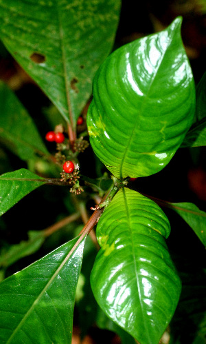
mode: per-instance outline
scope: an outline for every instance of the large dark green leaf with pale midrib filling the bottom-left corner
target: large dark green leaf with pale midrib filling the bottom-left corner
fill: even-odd
[[[71,343],[84,241],[73,239],[0,285],[1,343]]]

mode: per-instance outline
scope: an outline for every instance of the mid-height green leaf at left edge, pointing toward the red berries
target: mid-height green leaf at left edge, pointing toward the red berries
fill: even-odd
[[[47,183],[45,179],[24,168],[2,174],[0,176],[0,216],[44,183]]]

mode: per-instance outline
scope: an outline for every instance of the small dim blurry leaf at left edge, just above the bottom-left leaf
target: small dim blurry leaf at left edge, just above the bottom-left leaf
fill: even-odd
[[[29,239],[27,241],[21,241],[19,244],[11,245],[6,251],[2,250],[0,255],[0,267],[8,267],[15,261],[33,254],[45,241],[43,231],[30,230],[28,236]]]

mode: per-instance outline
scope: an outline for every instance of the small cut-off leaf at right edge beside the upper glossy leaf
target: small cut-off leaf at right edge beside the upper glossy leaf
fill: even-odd
[[[206,145],[206,119],[202,119],[187,132],[181,148],[187,147],[201,147]]]

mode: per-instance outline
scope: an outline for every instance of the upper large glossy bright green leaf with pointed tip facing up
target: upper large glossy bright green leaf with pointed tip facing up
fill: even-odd
[[[93,83],[87,124],[100,160],[117,178],[162,170],[192,125],[195,90],[181,19],[119,48]]]

